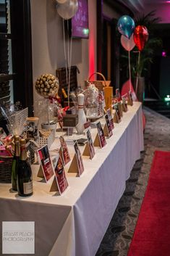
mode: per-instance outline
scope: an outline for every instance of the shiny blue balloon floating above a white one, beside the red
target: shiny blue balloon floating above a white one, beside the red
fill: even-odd
[[[135,22],[132,19],[132,17],[124,15],[119,18],[117,27],[122,35],[126,36],[127,38],[130,38],[130,36],[132,36],[133,31],[135,30]]]

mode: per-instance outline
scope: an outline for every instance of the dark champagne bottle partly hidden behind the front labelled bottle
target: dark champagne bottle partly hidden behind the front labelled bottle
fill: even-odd
[[[20,136],[14,136],[14,157],[12,160],[12,190],[17,191],[17,168],[20,160]]]

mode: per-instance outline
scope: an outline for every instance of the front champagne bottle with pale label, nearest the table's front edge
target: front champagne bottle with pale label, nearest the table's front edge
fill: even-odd
[[[25,139],[20,140],[20,160],[17,170],[17,191],[21,197],[28,197],[33,194],[32,170],[27,162],[27,151]]]

